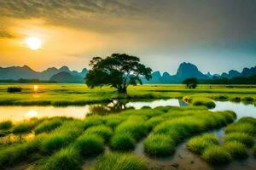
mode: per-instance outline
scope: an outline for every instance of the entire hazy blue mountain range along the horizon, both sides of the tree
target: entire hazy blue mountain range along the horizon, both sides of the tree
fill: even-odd
[[[70,71],[67,66],[62,66],[57,69],[55,67],[48,68],[45,71],[33,71],[29,66],[11,66],[0,67],[0,80],[19,80],[19,79],[38,79],[42,81],[51,82],[65,82],[65,83],[82,83],[88,70],[84,68],[82,71]],[[222,74],[212,75],[210,72],[203,74],[198,70],[196,65],[185,63],[179,65],[177,73],[170,75],[164,72],[162,75],[160,71],[152,73],[152,79],[146,80],[142,77],[143,83],[180,83],[184,79],[195,77],[199,80],[211,80],[219,78],[231,79],[233,77],[251,77],[256,75],[256,66],[252,68],[244,68],[241,72],[231,70]]]

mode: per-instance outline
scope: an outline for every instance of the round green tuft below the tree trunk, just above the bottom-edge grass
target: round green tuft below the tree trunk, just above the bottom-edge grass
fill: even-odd
[[[130,133],[114,134],[110,140],[110,147],[113,150],[127,151],[135,148],[136,140],[133,139]]]

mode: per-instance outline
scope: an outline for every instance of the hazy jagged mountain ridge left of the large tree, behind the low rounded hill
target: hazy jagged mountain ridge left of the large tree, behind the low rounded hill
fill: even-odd
[[[33,71],[27,65],[11,66],[6,68],[0,67],[0,80],[19,80],[21,78],[48,81],[50,77],[63,71],[70,73],[74,77],[85,77],[88,72],[86,68],[84,68],[81,72],[70,71],[67,66],[62,66],[60,69],[51,67],[44,71]]]

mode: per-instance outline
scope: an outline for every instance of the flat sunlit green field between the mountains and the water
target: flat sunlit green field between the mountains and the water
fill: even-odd
[[[8,87],[20,87],[20,93],[7,93]],[[139,85],[128,88],[128,96],[119,96],[114,88],[87,88],[84,84],[1,84],[0,105],[86,105],[109,99],[211,98],[256,102],[256,86],[200,85],[189,89],[183,85]]]

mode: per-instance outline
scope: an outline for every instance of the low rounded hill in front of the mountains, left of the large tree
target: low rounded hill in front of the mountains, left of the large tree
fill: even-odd
[[[61,71],[49,78],[50,82],[84,83],[84,77],[75,76],[67,71]]]

